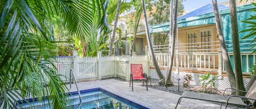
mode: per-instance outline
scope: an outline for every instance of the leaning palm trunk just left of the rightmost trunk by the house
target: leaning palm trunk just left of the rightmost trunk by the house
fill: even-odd
[[[222,24],[221,24],[221,18],[219,17],[217,0],[212,0],[212,5],[213,5],[213,11],[214,11],[214,15],[215,15],[217,33],[218,33],[218,37],[219,37],[219,45],[221,46],[221,51],[222,51],[222,60],[224,62],[224,66],[227,70],[230,87],[236,89],[235,74],[233,72],[233,68],[232,68],[230,60],[229,60],[227,46],[226,46],[225,39],[222,34]],[[221,60],[219,60],[219,61],[221,61]],[[235,93],[236,93],[236,91],[232,92],[232,94],[235,94]]]

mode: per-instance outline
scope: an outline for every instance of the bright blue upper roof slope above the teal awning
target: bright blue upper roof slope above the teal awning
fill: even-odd
[[[218,4],[219,10],[224,10],[224,9],[228,9],[228,8],[229,8],[228,5]],[[208,14],[211,12],[213,12],[212,4],[207,4],[204,7],[201,7],[199,9],[189,12],[186,15],[178,17],[178,20],[181,20],[183,18],[188,18],[188,17],[200,16],[200,15]]]

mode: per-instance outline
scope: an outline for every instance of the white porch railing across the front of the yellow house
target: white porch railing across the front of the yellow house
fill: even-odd
[[[252,54],[249,51],[255,48],[256,43],[251,43],[252,40],[241,40],[243,41],[241,47],[241,63],[243,73],[252,72],[253,65],[256,61],[256,54]],[[232,46],[231,41],[227,41],[227,46]],[[153,46],[154,53],[156,55],[158,65],[160,67],[167,67],[169,61],[169,45],[159,45]],[[232,50],[232,49],[231,49]],[[231,65],[234,68],[233,52],[230,49],[229,57]],[[148,53],[150,55],[150,53]],[[151,60],[151,56],[150,60]],[[153,62],[151,62],[153,66]],[[225,73],[224,63],[222,61],[222,52],[219,49],[219,42],[197,42],[197,43],[178,43],[175,45],[175,55],[174,55],[174,69],[185,69],[185,70],[203,70],[209,72],[218,72],[221,76]]]

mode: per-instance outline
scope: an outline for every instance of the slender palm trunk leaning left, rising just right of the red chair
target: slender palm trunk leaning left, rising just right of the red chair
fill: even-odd
[[[150,31],[148,29],[148,23],[147,23],[147,14],[146,14],[146,8],[145,8],[145,2],[144,0],[141,0],[141,4],[142,4],[142,10],[144,13],[144,17],[145,17],[145,30],[146,30],[146,35],[147,35],[147,43],[148,43],[148,48],[151,52],[151,56],[153,59],[153,63],[154,63],[154,67],[156,68],[157,71],[157,75],[159,78],[159,82],[158,85],[159,86],[164,86],[165,85],[165,78],[164,75],[162,74],[158,64],[157,64],[157,60],[156,60],[156,56],[154,55],[154,51],[153,51],[153,45],[152,45],[152,41],[150,39]]]

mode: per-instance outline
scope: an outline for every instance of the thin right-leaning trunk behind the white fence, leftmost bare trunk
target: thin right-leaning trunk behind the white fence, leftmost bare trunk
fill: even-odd
[[[115,40],[115,35],[116,35],[116,27],[117,27],[117,22],[118,22],[118,15],[119,15],[119,11],[120,11],[120,6],[121,6],[121,0],[118,0],[117,9],[116,9],[116,17],[115,17],[115,22],[114,22],[113,34],[112,34],[112,37],[110,39],[109,56],[112,55],[112,48],[113,48],[113,44],[114,44],[114,40]]]

